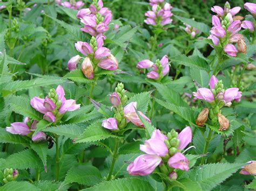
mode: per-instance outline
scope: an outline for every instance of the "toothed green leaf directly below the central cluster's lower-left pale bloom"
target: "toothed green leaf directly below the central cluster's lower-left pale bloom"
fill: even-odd
[[[103,140],[109,137],[120,138],[114,135],[111,130],[103,128],[102,119],[100,119],[88,126],[83,134],[76,139],[76,143],[97,142],[98,140]]]

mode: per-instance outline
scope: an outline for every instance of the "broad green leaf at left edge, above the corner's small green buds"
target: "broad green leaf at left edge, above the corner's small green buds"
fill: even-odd
[[[0,160],[0,168],[16,168],[16,169],[27,169],[27,168],[40,168],[42,162],[38,155],[31,149],[27,149],[15,154],[10,155],[6,159]]]

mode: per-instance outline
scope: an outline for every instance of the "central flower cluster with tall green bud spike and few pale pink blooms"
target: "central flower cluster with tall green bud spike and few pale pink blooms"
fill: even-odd
[[[123,83],[117,84],[114,93],[110,95],[110,102],[114,108],[114,117],[110,117],[102,121],[102,126],[104,128],[111,130],[124,129],[129,122],[136,126],[144,127],[144,124],[140,121],[136,112],[137,102],[131,102],[123,108],[123,105],[127,102]],[[151,122],[143,112],[138,111],[138,113],[146,119],[146,121]]]

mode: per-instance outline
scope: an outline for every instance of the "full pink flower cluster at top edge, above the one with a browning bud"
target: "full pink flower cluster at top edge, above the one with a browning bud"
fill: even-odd
[[[109,23],[112,20],[112,13],[108,8],[103,7],[102,0],[93,0],[89,9],[81,9],[77,13],[84,24],[82,31],[89,33],[91,36],[102,36],[104,32],[109,30]]]

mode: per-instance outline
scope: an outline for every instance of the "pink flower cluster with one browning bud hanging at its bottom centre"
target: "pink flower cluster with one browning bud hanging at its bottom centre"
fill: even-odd
[[[107,70],[118,68],[118,61],[111,54],[110,49],[103,47],[102,36],[92,37],[90,44],[78,41],[75,46],[77,51],[86,56],[81,69],[87,79],[93,79],[94,72],[98,70],[98,67]],[[68,62],[69,70],[76,69],[79,60],[79,55],[73,56]]]

